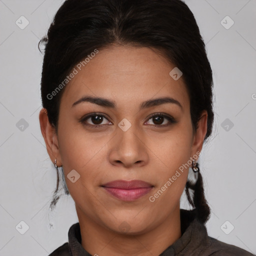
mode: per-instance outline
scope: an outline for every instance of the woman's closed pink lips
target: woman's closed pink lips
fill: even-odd
[[[133,201],[147,194],[153,185],[142,180],[114,180],[102,185],[111,195],[124,200]]]

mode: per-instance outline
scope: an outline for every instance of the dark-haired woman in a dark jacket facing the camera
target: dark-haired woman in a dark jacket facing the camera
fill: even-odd
[[[50,255],[252,255],[205,228],[212,72],[186,4],[66,0],[41,41],[41,132],[79,220]]]

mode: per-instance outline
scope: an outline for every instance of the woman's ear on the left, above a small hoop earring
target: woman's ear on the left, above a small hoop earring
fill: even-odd
[[[57,166],[61,166],[62,163],[58,147],[57,131],[56,128],[49,122],[47,110],[45,108],[42,108],[39,112],[39,122],[48,155],[53,163],[56,159]]]

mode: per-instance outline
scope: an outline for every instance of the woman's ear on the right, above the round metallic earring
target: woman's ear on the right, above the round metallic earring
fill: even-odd
[[[207,111],[203,110],[198,120],[198,127],[192,139],[191,156],[202,150],[203,140],[207,132],[207,115]]]

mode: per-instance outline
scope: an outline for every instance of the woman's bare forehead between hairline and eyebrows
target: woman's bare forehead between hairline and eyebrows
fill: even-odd
[[[127,107],[145,99],[171,96],[185,107],[189,99],[182,76],[174,80],[169,75],[174,67],[149,47],[107,47],[87,59],[84,66],[75,66],[77,73],[66,85],[61,101],[71,106],[90,94],[111,98],[117,107]]]

